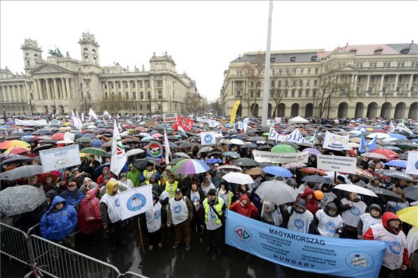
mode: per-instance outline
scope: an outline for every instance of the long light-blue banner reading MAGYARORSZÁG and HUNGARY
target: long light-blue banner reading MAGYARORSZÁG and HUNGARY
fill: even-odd
[[[386,242],[299,233],[226,211],[228,245],[289,268],[340,277],[378,277]]]

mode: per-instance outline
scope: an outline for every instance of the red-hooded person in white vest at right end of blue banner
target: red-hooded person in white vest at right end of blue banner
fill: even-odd
[[[379,278],[389,277],[394,270],[406,270],[410,265],[406,236],[401,229],[401,219],[394,213],[383,213],[382,224],[375,224],[363,235],[364,240],[387,242]]]

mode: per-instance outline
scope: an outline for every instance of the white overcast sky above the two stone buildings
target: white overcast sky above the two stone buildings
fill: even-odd
[[[271,49],[327,50],[346,45],[410,43],[417,1],[274,1]],[[268,1],[4,1],[0,2],[0,66],[23,70],[25,38],[80,60],[82,32],[100,45],[100,64],[149,70],[167,51],[178,72],[196,80],[208,100],[219,97],[229,63],[265,50]]]

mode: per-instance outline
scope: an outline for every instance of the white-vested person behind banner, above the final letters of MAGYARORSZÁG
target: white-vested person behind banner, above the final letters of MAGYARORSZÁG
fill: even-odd
[[[339,238],[343,219],[338,214],[335,203],[327,203],[323,210],[318,210],[314,216],[318,233],[328,238]]]

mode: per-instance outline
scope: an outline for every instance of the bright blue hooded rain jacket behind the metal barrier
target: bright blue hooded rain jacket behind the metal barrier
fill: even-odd
[[[55,211],[56,203],[64,202],[60,211]],[[40,236],[47,240],[62,240],[77,226],[77,211],[61,197],[56,196],[51,208],[40,219]]]

